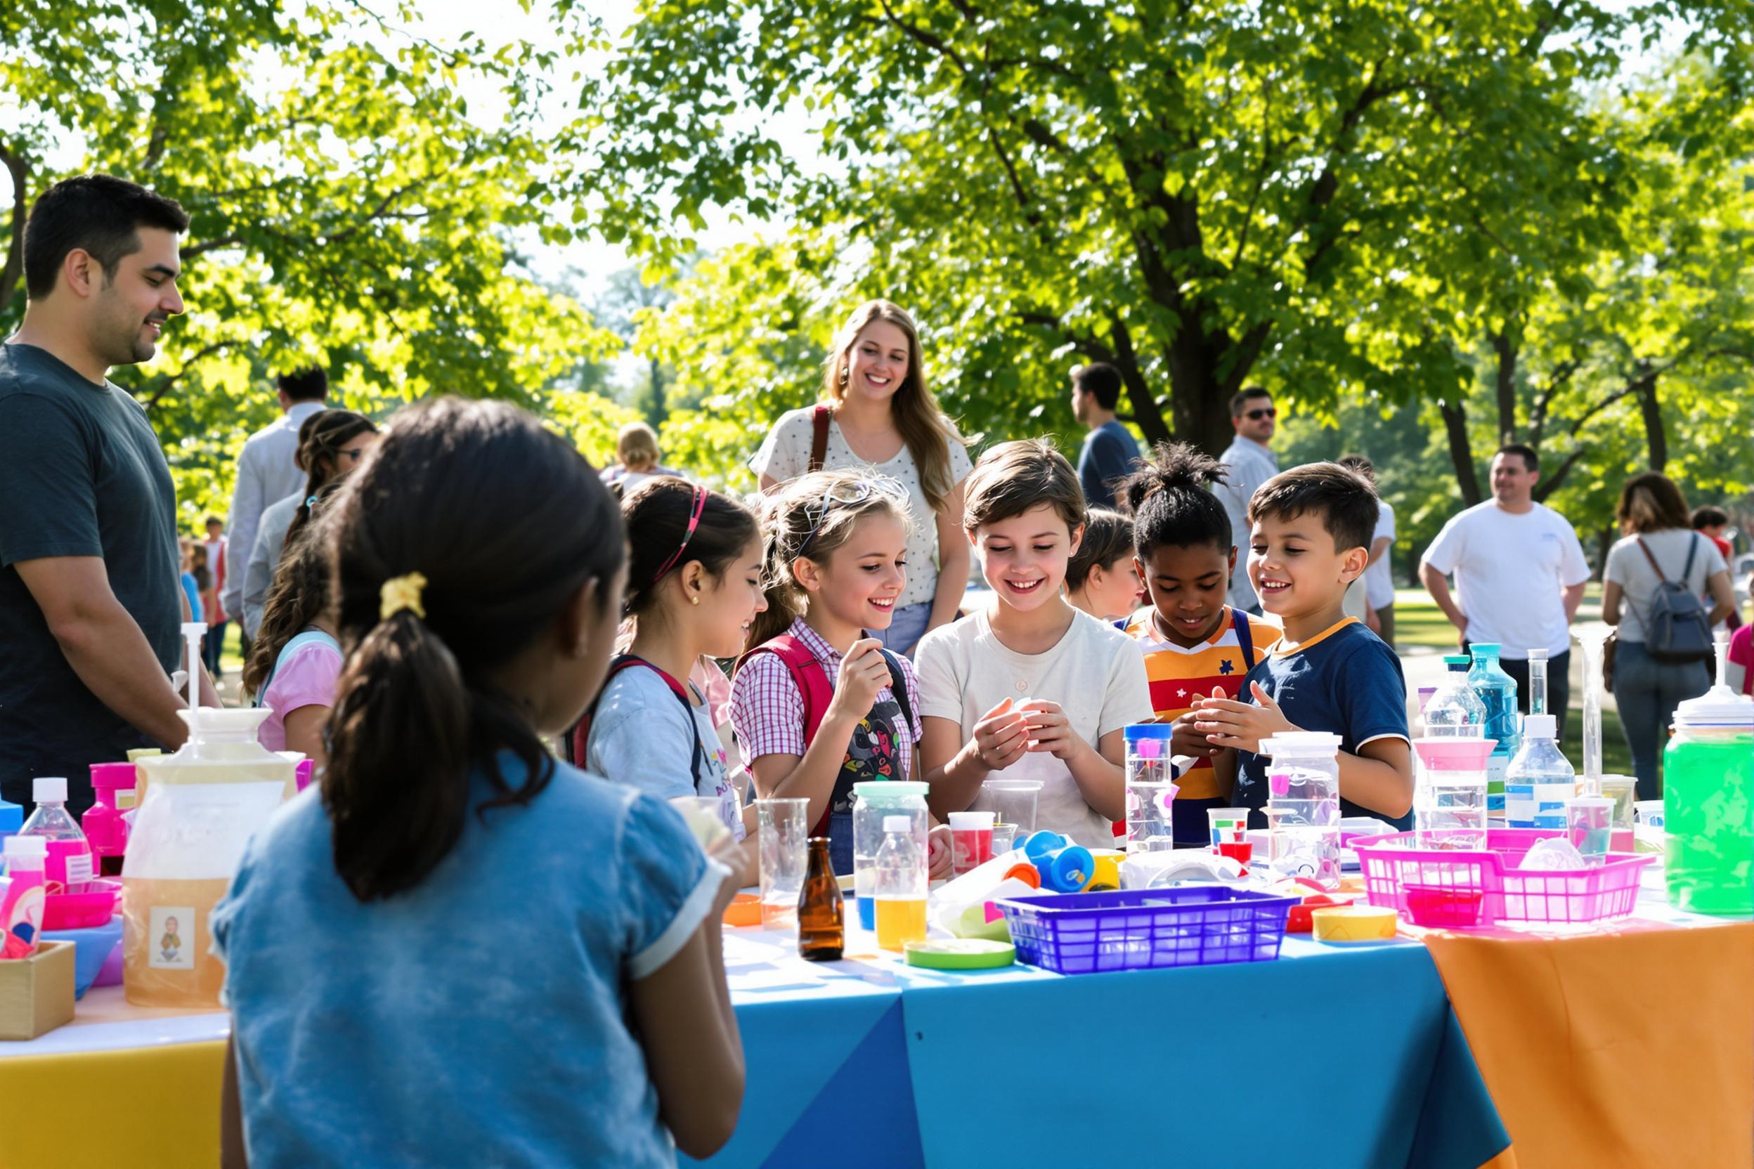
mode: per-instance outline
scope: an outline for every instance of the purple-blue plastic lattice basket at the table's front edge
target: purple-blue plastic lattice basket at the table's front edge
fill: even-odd
[[[1223,885],[998,901],[1017,960],[1061,974],[1272,962],[1296,897]]]

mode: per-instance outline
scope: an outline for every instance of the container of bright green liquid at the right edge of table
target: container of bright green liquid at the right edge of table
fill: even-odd
[[[1675,708],[1663,750],[1668,899],[1694,913],[1754,913],[1754,699],[1717,685]]]

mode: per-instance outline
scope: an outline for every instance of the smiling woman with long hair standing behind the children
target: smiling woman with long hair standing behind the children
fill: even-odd
[[[907,587],[888,629],[872,636],[912,654],[928,629],[956,619],[968,585],[963,480],[973,464],[926,386],[914,319],[888,300],[852,310],[835,335],[814,407],[789,410],[749,461],[761,489],[816,470],[868,470],[907,489],[914,526]]]

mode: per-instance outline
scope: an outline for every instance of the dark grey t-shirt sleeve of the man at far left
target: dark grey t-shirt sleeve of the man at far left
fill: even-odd
[[[49,398],[0,400],[0,564],[103,556],[86,440]]]

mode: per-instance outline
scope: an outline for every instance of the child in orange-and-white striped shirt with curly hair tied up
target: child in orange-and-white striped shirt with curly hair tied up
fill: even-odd
[[[1175,843],[1203,845],[1207,808],[1223,808],[1230,792],[1212,771],[1212,745],[1193,729],[1194,699],[1237,698],[1282,631],[1224,603],[1237,549],[1224,505],[1209,491],[1224,482],[1224,464],[1182,442],[1158,443],[1154,457],[1121,485],[1133,514],[1133,564],[1151,599],[1126,631],[1145,654],[1158,720],[1175,724],[1170,750],[1196,761],[1177,780]]]

